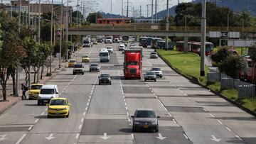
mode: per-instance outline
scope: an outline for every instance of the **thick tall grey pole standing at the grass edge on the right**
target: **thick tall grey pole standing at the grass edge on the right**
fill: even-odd
[[[201,65],[200,75],[205,76],[205,55],[206,55],[206,0],[202,0],[202,19],[201,19]]]

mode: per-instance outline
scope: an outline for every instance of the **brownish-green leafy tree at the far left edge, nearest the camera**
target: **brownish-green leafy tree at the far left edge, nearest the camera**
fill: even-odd
[[[18,23],[15,19],[11,19],[6,11],[0,13],[1,23],[1,40],[0,48],[0,84],[3,88],[3,97],[6,101],[6,82],[10,74],[15,73],[22,57],[26,56],[26,51],[21,45],[16,30]]]

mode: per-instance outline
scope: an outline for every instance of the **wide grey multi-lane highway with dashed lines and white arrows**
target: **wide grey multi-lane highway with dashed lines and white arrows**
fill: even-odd
[[[90,55],[91,63],[101,65],[100,72],[73,75],[65,68],[47,84],[57,84],[60,96],[71,104],[69,118],[47,118],[47,106],[36,100],[20,101],[0,116],[0,143],[255,143],[256,119],[215,96],[208,89],[192,84],[159,59],[149,59],[144,49],[143,72],[161,67],[164,77],[156,82],[144,79],[124,80],[124,55],[118,44],[110,62],[99,60],[100,43],[82,48],[76,60]],[[98,85],[97,77],[107,72],[112,85]],[[154,109],[159,132],[132,132],[130,116],[138,108]]]

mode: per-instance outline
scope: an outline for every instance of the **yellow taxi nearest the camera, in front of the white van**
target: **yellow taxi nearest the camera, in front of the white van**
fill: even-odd
[[[53,98],[50,99],[50,103],[46,105],[48,105],[48,118],[51,116],[65,116],[68,118],[71,106],[71,104],[68,103],[68,99]]]

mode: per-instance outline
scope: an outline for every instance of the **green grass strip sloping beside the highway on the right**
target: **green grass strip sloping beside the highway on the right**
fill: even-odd
[[[208,84],[207,77],[200,77],[200,57],[196,53],[188,52],[178,52],[176,50],[157,50],[159,55],[164,57],[171,66],[176,69],[181,74],[187,77],[197,77],[201,84],[209,87],[215,92],[219,92],[223,96],[231,99],[241,106],[246,107],[252,111],[256,112],[256,99],[238,99],[238,91],[235,89],[225,89],[220,91],[220,82]],[[209,72],[209,68],[206,67],[206,75]]]

